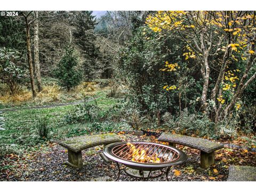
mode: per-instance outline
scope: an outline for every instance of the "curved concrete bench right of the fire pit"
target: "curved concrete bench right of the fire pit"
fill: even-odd
[[[206,169],[207,167],[215,163],[214,151],[224,147],[224,145],[222,144],[215,143],[209,140],[172,133],[162,133],[157,140],[169,142],[170,145],[173,147],[175,147],[175,143],[177,143],[179,145],[184,145],[200,150],[200,166],[203,169]]]

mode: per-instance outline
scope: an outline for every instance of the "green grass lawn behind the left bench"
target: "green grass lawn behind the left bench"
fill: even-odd
[[[98,106],[102,110],[106,110],[111,106],[114,106],[118,102],[118,99],[106,97],[107,92],[101,91],[94,97],[96,98]],[[90,101],[90,102],[95,102]],[[42,145],[45,140],[39,137],[36,124],[39,119],[47,118],[50,126],[50,138],[60,139],[64,137],[73,137],[75,135],[83,135],[88,133],[87,127],[97,127],[102,125],[90,123],[86,124],[64,124],[63,118],[69,113],[71,109],[74,109],[75,105],[58,106],[53,108],[41,108],[41,109],[20,109],[17,111],[5,111],[2,116],[5,118],[4,129],[0,131],[0,146],[12,145],[18,149],[33,149],[37,145]],[[117,124],[110,124],[109,130],[112,127],[122,126]]]

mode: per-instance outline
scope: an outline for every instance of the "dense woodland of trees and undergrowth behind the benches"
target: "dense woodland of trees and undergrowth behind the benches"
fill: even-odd
[[[107,11],[100,18],[92,11],[23,11],[0,17],[0,106],[84,101],[65,109],[58,125],[47,114],[26,125],[29,145],[62,137],[56,127],[67,126],[65,136],[167,130],[241,136],[254,145],[255,29],[252,11]],[[89,102],[105,88],[113,105]],[[15,145],[29,138],[1,137]]]

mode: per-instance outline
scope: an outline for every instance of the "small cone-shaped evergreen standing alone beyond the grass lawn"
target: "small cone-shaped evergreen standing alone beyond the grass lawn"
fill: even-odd
[[[77,57],[74,47],[68,46],[65,54],[58,63],[58,69],[55,73],[59,79],[60,86],[68,91],[76,85],[79,85],[82,81],[82,73],[81,70],[79,70]]]

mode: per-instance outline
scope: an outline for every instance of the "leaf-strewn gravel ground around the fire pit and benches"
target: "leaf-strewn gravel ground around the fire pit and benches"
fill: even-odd
[[[121,135],[125,141],[154,141],[153,137],[138,137],[135,135]],[[106,163],[100,157],[103,146],[98,146],[82,151],[84,166],[82,169],[74,169],[64,165],[67,161],[67,150],[59,145],[49,145],[45,150],[37,151],[30,158],[19,159],[20,171],[7,175],[4,172],[0,180],[7,181],[112,181],[117,177],[115,163]],[[209,169],[199,169],[200,151],[188,147],[179,146],[188,155],[186,163],[171,167],[170,181],[226,181],[228,177],[227,159],[223,154],[229,150],[221,149],[216,154],[216,164]],[[230,152],[231,153],[231,152]],[[248,158],[248,157],[247,157]],[[255,154],[254,154],[255,158]],[[21,162],[23,162],[21,164]],[[25,163],[24,163],[25,162]],[[255,162],[254,162],[255,163]],[[254,165],[255,166],[255,165]],[[6,177],[7,175],[7,177]],[[141,181],[121,172],[118,181]],[[165,174],[150,181],[166,181]]]

